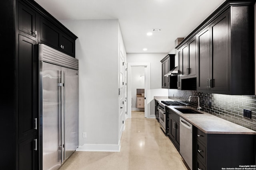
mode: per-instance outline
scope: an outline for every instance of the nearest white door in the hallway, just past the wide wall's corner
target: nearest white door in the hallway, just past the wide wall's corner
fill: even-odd
[[[119,56],[119,127],[120,127],[120,134],[119,139],[122,136],[122,132],[124,130],[124,56],[122,55],[122,52],[120,51]]]

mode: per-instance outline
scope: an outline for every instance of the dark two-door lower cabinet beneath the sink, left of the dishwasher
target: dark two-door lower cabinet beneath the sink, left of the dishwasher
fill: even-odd
[[[177,115],[174,111],[166,109],[167,111],[167,130],[168,137],[176,147],[180,150],[180,116]]]

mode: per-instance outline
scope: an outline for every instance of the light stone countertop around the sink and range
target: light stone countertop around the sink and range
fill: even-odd
[[[160,97],[155,98],[157,101],[168,101],[171,99]],[[173,101],[173,100],[171,100]],[[192,125],[203,131],[204,133],[212,134],[250,134],[256,135],[256,131],[250,130],[246,127],[242,127],[230,121],[221,119],[220,117],[214,116],[210,113],[200,111],[203,114],[184,114],[175,108],[192,108],[190,106],[166,106],[180,117],[186,119]],[[192,108],[194,109],[194,108]]]

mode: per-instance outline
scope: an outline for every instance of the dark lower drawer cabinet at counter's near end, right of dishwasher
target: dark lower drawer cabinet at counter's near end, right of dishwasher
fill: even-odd
[[[194,139],[196,170],[240,168],[256,163],[255,135],[205,134],[195,127]]]

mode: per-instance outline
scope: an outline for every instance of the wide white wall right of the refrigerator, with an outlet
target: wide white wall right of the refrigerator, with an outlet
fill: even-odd
[[[60,22],[78,36],[79,148],[116,150],[119,147],[118,20]],[[82,137],[83,132],[87,138]]]

